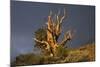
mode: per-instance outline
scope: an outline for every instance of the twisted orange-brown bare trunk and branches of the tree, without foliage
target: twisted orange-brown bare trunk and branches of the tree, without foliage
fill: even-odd
[[[65,33],[64,39],[62,40],[62,42],[58,43],[58,38],[59,38],[59,36],[61,34],[61,30],[62,30],[61,25],[62,25],[62,22],[65,18],[65,15],[66,15],[65,10],[64,10],[64,15],[62,17],[59,16],[59,14],[60,14],[60,11],[59,11],[58,15],[56,16],[55,22],[51,16],[51,13],[48,16],[47,40],[46,41],[39,41],[36,38],[34,39],[36,42],[44,43],[45,45],[47,45],[46,49],[51,50],[52,56],[56,56],[57,47],[59,45],[64,46],[67,41],[72,39],[71,32],[68,31]]]

